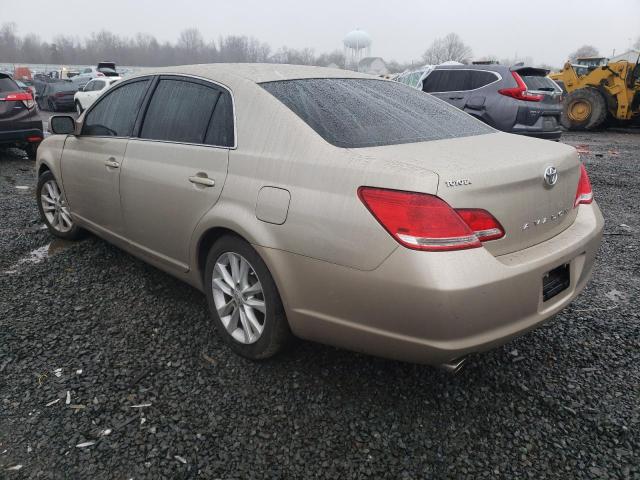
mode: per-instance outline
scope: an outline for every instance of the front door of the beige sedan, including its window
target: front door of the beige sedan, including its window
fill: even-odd
[[[62,183],[73,216],[116,235],[123,231],[120,168],[150,81],[131,81],[102,97],[62,152]]]

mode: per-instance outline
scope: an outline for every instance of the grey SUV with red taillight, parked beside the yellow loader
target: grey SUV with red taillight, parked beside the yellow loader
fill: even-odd
[[[498,130],[558,140],[562,90],[548,73],[524,65],[442,65],[422,90]]]

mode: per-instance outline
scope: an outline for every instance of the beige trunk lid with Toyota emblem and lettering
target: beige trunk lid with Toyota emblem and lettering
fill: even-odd
[[[505,230],[503,238],[484,243],[494,255],[544,242],[569,227],[577,214],[573,202],[580,168],[573,147],[495,133],[358,152],[428,168],[439,176],[437,195],[449,205],[490,212]],[[553,186],[545,182],[548,167],[556,169]],[[412,188],[415,184],[406,189]]]

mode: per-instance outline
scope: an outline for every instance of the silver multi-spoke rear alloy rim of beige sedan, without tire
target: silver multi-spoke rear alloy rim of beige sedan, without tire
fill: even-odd
[[[229,335],[242,344],[257,342],[265,327],[266,305],[253,266],[237,253],[223,253],[216,260],[211,288],[216,311]]]

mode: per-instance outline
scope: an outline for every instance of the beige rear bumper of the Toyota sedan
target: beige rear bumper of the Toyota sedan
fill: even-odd
[[[397,248],[373,271],[256,247],[276,280],[292,331],[381,357],[441,364],[503,344],[544,322],[586,285],[604,221],[595,202],[556,237],[494,257],[484,248]],[[544,302],[542,278],[570,265],[569,287]]]

